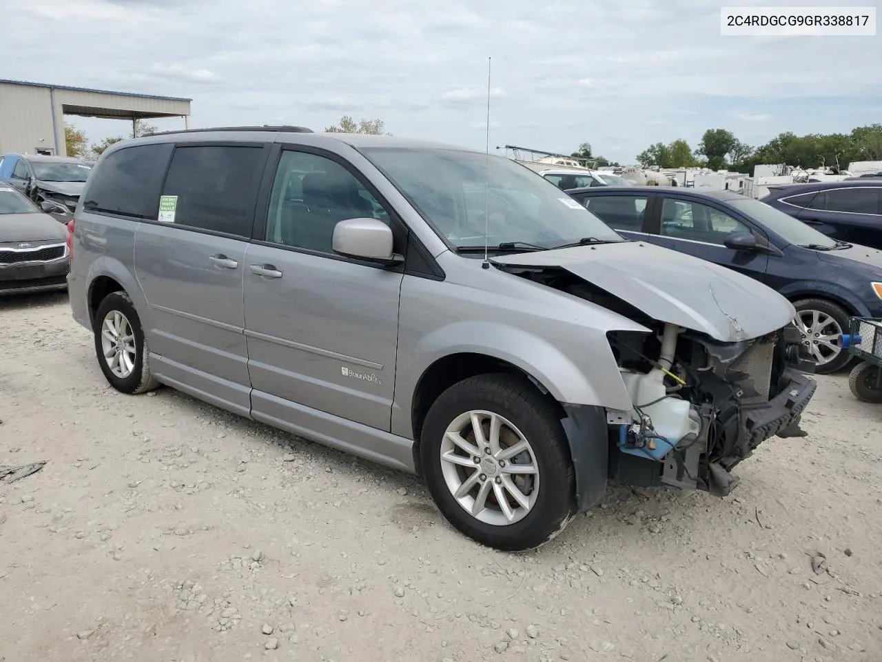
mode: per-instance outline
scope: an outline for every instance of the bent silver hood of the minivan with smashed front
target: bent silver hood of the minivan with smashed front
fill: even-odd
[[[749,276],[642,242],[500,255],[493,262],[564,268],[654,320],[721,342],[772,333],[796,315],[786,298]]]

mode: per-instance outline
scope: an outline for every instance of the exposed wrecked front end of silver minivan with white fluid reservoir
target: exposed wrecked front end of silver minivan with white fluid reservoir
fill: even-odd
[[[623,367],[633,411],[564,404],[580,508],[596,502],[610,479],[725,496],[738,483],[732,469],[759,444],[805,435],[800,419],[817,384],[806,374],[814,364],[799,339],[780,329],[749,342],[708,346],[684,335],[686,349],[692,340],[704,349],[693,348],[696,363],[681,373],[684,385],[671,387],[676,375],[662,371],[669,374],[668,395],[663,389],[662,397],[652,395],[660,384],[652,371]]]

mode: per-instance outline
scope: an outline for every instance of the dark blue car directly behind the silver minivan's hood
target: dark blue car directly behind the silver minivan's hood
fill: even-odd
[[[826,237],[759,200],[660,186],[569,193],[623,237],[689,253],[778,290],[796,307],[794,322],[822,374],[848,365],[841,334],[850,316],[882,317],[882,252]]]

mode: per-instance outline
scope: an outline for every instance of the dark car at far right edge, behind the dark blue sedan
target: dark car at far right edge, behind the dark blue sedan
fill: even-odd
[[[882,249],[882,179],[774,185],[760,201],[827,237]]]

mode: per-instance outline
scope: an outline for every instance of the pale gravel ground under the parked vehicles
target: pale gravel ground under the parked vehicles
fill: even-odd
[[[0,320],[0,465],[49,461],[0,483],[0,662],[882,660],[882,407],[843,376],[729,498],[611,487],[516,555],[415,478],[116,393],[64,296]]]

